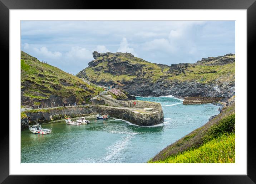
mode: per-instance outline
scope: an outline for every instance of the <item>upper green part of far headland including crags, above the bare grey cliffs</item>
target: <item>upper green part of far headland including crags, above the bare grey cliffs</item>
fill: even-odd
[[[150,79],[152,82],[166,78],[172,80],[191,81],[209,83],[219,79],[230,81],[235,79],[235,55],[225,55],[201,60],[197,63],[181,63],[172,66],[161,65],[145,61],[134,57],[130,53],[108,53],[104,56],[96,57],[94,65],[90,65],[85,70],[78,73],[79,77],[86,77],[89,81],[132,81],[137,78]],[[231,61],[226,62],[225,60]],[[223,61],[223,62],[222,62]],[[111,65],[116,65],[112,67]],[[121,65],[117,66],[117,65]],[[129,72],[129,68],[133,68]],[[119,69],[120,71],[117,71]],[[127,70],[128,71],[125,71]]]

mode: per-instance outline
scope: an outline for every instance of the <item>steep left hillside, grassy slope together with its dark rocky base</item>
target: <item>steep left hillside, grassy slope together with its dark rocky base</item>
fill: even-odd
[[[85,83],[57,67],[40,62],[21,51],[21,106],[46,108],[63,102],[81,104],[102,88]]]

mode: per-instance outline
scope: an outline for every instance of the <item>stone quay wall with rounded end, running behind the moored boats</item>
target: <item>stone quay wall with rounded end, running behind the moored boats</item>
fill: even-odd
[[[162,108],[160,111],[148,113],[139,113],[134,111],[136,109],[137,108],[92,105],[28,110],[21,112],[21,129],[27,129],[28,124],[31,126],[35,124],[36,121],[42,124],[63,119],[65,116],[73,118],[98,113],[108,113],[110,117],[123,119],[139,126],[152,126],[163,122]]]

